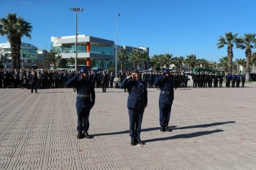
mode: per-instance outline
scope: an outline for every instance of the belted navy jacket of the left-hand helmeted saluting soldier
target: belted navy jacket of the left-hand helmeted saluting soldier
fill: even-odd
[[[76,86],[76,107],[92,108],[95,103],[95,91],[91,80],[83,80],[78,74],[65,83],[66,86]],[[81,95],[89,95],[89,97],[81,97]]]

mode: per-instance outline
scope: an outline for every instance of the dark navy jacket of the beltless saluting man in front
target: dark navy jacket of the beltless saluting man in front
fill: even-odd
[[[127,108],[144,109],[147,106],[147,85],[144,81],[136,82],[125,78],[120,88],[127,88],[128,90]]]

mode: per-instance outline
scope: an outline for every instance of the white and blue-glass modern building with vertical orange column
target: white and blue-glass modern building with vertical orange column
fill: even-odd
[[[115,44],[114,41],[92,37],[86,34],[77,36],[78,58],[77,65],[88,65],[91,67],[115,67]],[[62,60],[56,61],[56,67],[68,68],[70,57],[76,57],[76,35],[65,37],[51,37],[51,49],[60,52]],[[117,46],[117,49],[137,49],[128,46]],[[138,50],[149,52],[148,47],[139,47]],[[148,63],[147,63],[148,68]]]

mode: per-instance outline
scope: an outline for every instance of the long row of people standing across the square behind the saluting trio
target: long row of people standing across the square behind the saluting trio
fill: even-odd
[[[33,70],[8,70],[0,69],[0,88],[31,88],[31,83],[29,82],[30,75],[32,75]],[[78,72],[73,71],[57,71],[57,70],[35,70],[35,75],[37,75],[37,88],[70,88],[65,86],[65,82],[68,82],[70,78],[76,76]],[[132,72],[129,70],[127,72],[120,72],[119,74],[114,74],[114,72],[103,71],[90,71],[88,74],[88,79],[93,82],[94,88],[102,88],[102,92],[106,92],[106,88],[119,88],[122,81],[131,75]],[[153,85],[153,82],[157,80],[157,77],[162,75],[161,72],[140,72],[140,80],[143,80],[147,88],[158,88],[157,85]],[[211,72],[196,72],[191,75],[193,80],[193,88],[222,88],[223,80],[226,81],[226,88],[229,87],[240,87],[240,82],[242,82],[242,87],[244,87],[245,75],[239,74],[227,74],[225,77],[218,73],[212,74]],[[183,72],[170,72],[170,80],[173,80],[173,86],[175,90],[177,88],[187,88],[188,84],[188,74]],[[230,83],[232,85],[230,85]],[[126,92],[127,89],[124,89]]]

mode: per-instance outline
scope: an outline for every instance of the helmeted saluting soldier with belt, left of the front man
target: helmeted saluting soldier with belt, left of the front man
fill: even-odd
[[[88,71],[81,68],[80,73],[72,77],[65,86],[76,86],[76,110],[78,115],[77,138],[91,138],[88,134],[90,110],[95,103],[93,82],[87,79]]]

